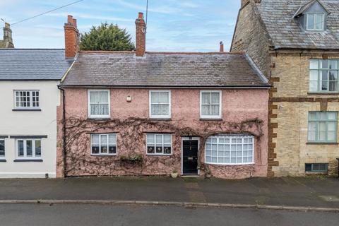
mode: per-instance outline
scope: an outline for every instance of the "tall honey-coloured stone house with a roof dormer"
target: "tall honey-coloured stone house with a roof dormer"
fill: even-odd
[[[242,0],[231,52],[269,79],[269,176],[337,174],[339,3]]]

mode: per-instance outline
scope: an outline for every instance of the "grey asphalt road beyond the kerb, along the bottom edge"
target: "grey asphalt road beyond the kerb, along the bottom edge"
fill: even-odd
[[[110,206],[92,204],[0,204],[4,226],[93,225],[338,225],[338,213],[240,208]]]

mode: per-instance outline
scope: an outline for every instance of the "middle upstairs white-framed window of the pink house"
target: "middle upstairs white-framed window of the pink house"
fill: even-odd
[[[171,117],[171,92],[150,90],[150,118]]]

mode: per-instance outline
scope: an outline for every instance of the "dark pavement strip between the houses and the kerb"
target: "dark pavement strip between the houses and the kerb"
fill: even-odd
[[[339,179],[327,177],[251,178],[73,177],[0,179],[0,203],[111,203],[164,206],[271,207],[339,212]],[[67,202],[69,201],[69,202]],[[109,203],[109,202],[108,202]],[[171,204],[172,203],[172,204]],[[189,205],[184,205],[189,203]],[[166,205],[168,204],[168,205]],[[177,205],[176,205],[177,204]],[[273,208],[275,207],[275,208]],[[304,208],[304,209],[303,209]],[[296,209],[297,210],[297,209]]]

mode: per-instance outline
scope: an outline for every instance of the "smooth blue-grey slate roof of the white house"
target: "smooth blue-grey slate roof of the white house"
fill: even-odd
[[[0,49],[0,81],[61,80],[71,64],[64,49]]]

